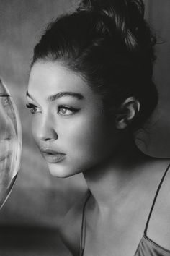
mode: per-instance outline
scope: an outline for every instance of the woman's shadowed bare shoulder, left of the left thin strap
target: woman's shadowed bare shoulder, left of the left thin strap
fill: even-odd
[[[81,221],[82,211],[86,197],[89,192],[85,192],[82,199],[76,202],[63,217],[61,226],[59,226],[59,234],[63,243],[71,251],[73,255],[79,255],[79,244],[81,237]]]

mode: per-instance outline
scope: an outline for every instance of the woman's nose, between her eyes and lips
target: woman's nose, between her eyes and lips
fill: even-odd
[[[42,116],[40,122],[37,124],[37,138],[39,140],[57,140],[58,133],[56,131],[56,124],[53,121],[53,116],[46,114]]]

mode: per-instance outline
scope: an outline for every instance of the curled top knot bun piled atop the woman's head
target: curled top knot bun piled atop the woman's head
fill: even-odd
[[[95,12],[109,17],[124,38],[127,48],[132,51],[140,47],[148,48],[151,52],[156,43],[156,38],[151,35],[144,20],[143,0],[82,0],[77,11]],[[155,59],[153,53],[151,59]]]

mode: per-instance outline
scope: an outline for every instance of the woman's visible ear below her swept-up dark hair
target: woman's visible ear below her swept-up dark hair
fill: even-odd
[[[116,115],[116,127],[117,129],[125,129],[128,127],[134,117],[140,111],[140,103],[135,97],[127,98],[120,108],[118,108]]]

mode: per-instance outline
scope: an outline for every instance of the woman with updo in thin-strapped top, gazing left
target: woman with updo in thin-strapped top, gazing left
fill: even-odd
[[[170,255],[169,161],[133,138],[158,101],[143,14],[142,0],[84,0],[35,46],[35,142],[51,174],[82,172],[89,187],[60,229],[73,255]]]

